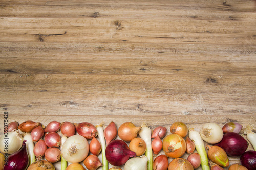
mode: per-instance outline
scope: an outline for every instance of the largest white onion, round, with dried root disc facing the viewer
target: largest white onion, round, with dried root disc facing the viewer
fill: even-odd
[[[81,135],[70,136],[61,147],[63,158],[71,163],[83,161],[89,153],[89,144]]]

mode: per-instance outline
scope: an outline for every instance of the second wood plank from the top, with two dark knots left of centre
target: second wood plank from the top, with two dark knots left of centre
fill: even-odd
[[[1,18],[0,41],[255,45],[255,27],[250,21]]]

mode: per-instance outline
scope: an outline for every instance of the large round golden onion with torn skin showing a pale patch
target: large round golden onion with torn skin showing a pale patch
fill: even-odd
[[[180,135],[167,135],[163,139],[163,151],[168,157],[179,158],[186,152],[186,142]]]

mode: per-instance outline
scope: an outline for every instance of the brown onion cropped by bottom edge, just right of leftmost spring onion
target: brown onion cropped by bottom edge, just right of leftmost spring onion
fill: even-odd
[[[27,170],[55,170],[55,167],[51,162],[46,160],[41,160],[40,157],[36,158],[37,160],[32,163]]]

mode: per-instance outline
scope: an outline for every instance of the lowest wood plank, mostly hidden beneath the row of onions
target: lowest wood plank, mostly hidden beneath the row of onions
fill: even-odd
[[[1,113],[0,122],[4,122],[4,116]],[[86,116],[86,115],[70,115],[70,116],[63,116],[63,115],[24,115],[20,116],[19,114],[15,114],[13,110],[8,111],[8,120],[11,121],[18,121],[19,123],[22,123],[26,120],[33,120],[35,122],[41,122],[43,125],[47,125],[52,120],[56,120],[59,122],[64,122],[69,120],[73,123],[80,123],[80,122],[90,122],[93,125],[100,124],[101,122],[104,122],[104,125],[108,125],[111,121],[114,121],[116,123],[117,128],[124,122],[132,122],[136,126],[140,126],[143,123],[146,123],[152,130],[154,130],[157,126],[164,126],[167,128],[167,134],[170,134],[170,125],[176,121],[182,121],[184,122],[189,128],[195,128],[195,130],[200,131],[201,127],[206,122],[215,122],[221,127],[227,123],[227,122],[239,122],[240,124],[245,127],[248,123],[255,122],[256,116],[234,116],[234,115],[226,115],[226,116],[163,116],[163,115],[154,115],[154,116]],[[3,134],[3,125],[0,126],[0,134]],[[244,128],[240,132],[241,135],[243,135]],[[60,134],[61,135],[61,134]],[[243,135],[243,137],[247,140],[246,136]],[[117,137],[117,139],[120,139]],[[91,140],[89,140],[90,142]],[[207,143],[205,142],[205,145]],[[249,143],[249,147],[247,150],[252,150],[252,145]],[[158,155],[164,154],[163,151],[161,151]],[[154,155],[154,159],[156,156]],[[184,154],[182,158],[187,158],[188,154]],[[102,155],[100,153],[99,155],[100,160],[102,161]],[[168,161],[172,161],[173,158],[168,158]],[[229,157],[230,165],[233,163],[240,163],[239,157]],[[70,164],[70,163],[69,163]],[[83,163],[81,163],[83,165]],[[60,169],[60,162],[54,163],[54,166],[56,170]],[[84,165],[83,165],[84,166]],[[109,167],[112,167],[111,164],[109,164]],[[123,169],[124,166],[121,166]],[[99,170],[102,170],[102,168],[98,168]],[[202,169],[199,167],[198,169]],[[228,169],[224,168],[224,169]]]

